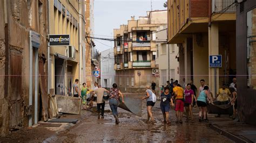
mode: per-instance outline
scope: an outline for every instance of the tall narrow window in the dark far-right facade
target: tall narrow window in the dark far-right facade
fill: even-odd
[[[256,8],[247,12],[247,88],[256,89]]]

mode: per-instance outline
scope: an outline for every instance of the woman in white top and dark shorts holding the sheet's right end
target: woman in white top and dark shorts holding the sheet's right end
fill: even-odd
[[[147,99],[147,123],[151,122],[156,123],[152,114],[152,108],[155,104],[153,102],[153,92],[150,90],[150,85],[146,85],[146,96],[142,97],[142,100]]]

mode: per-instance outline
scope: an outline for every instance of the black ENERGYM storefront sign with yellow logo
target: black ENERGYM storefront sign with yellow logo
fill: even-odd
[[[49,46],[69,46],[70,35],[49,35]]]

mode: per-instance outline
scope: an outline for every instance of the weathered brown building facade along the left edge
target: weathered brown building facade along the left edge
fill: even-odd
[[[0,1],[1,137],[41,118],[39,77],[32,75],[48,70],[46,5],[45,0]]]

